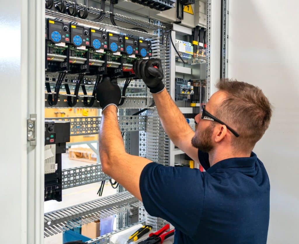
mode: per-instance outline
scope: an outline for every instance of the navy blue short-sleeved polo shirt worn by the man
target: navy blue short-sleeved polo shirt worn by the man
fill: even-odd
[[[140,176],[146,211],[170,222],[175,244],[266,244],[270,184],[263,163],[228,158],[212,167],[199,151],[206,172],[149,163]]]

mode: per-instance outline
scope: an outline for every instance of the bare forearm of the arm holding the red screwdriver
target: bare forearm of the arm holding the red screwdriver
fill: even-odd
[[[173,143],[179,146],[181,138],[184,138],[187,134],[194,133],[193,130],[188,125],[186,118],[176,106],[166,89],[152,95],[165,132]]]

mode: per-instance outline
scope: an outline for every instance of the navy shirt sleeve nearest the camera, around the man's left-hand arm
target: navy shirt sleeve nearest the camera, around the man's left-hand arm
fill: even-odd
[[[147,164],[140,176],[145,210],[192,236],[202,216],[205,172],[187,167]]]

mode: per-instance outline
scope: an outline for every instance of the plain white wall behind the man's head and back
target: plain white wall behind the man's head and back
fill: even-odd
[[[254,151],[271,182],[268,243],[299,243],[299,1],[229,1],[228,77],[259,86],[274,106]]]

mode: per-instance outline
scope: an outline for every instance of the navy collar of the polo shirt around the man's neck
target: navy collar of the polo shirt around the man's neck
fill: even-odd
[[[251,152],[250,157],[245,158],[227,158],[219,161],[210,167],[207,172],[214,173],[217,169],[238,168],[238,167],[252,167],[257,160],[257,155]]]

